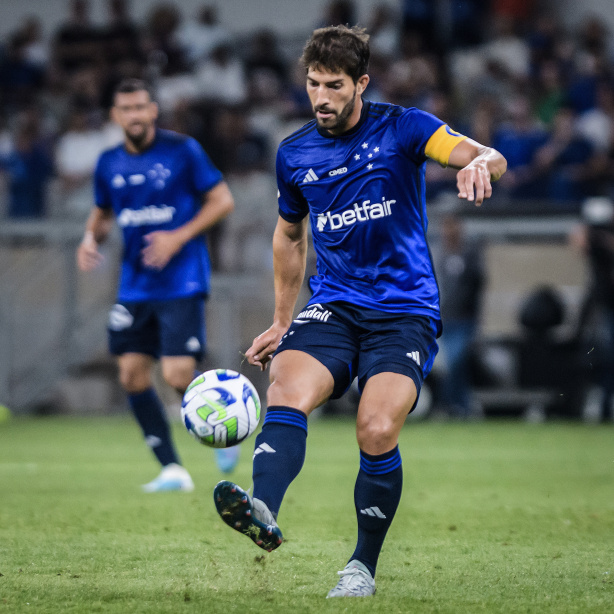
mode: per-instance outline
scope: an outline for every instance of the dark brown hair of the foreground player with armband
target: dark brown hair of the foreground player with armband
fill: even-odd
[[[369,35],[358,26],[318,28],[303,49],[301,63],[306,70],[345,72],[356,83],[369,68]]]

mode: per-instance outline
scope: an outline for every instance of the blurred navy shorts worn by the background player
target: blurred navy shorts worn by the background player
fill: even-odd
[[[194,356],[205,349],[205,299],[202,296],[168,301],[124,302],[109,313],[111,354],[127,352],[160,356]]]

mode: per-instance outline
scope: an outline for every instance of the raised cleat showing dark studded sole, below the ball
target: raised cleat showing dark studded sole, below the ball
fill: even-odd
[[[263,550],[271,552],[283,541],[269,508],[260,499],[252,499],[240,486],[227,480],[219,482],[213,491],[213,500],[222,520]]]

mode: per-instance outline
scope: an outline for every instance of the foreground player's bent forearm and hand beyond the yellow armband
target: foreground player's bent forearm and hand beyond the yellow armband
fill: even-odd
[[[492,183],[505,173],[507,161],[496,149],[463,139],[450,153],[448,166],[460,169],[456,174],[458,197],[468,201],[475,198],[479,207],[492,196]]]

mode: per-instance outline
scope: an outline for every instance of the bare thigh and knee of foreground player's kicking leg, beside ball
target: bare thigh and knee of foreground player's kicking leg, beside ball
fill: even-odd
[[[316,358],[299,350],[276,354],[271,362],[267,404],[284,405],[309,415],[332,394],[335,380]]]

